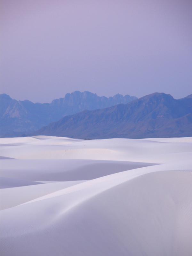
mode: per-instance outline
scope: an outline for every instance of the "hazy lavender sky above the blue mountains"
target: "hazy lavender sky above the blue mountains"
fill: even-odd
[[[192,93],[191,0],[1,0],[1,93]]]

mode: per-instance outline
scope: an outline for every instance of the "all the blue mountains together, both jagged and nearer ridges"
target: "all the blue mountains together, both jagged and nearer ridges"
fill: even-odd
[[[192,95],[152,93],[137,99],[75,91],[51,103],[0,95],[0,137],[51,135],[81,139],[192,136]]]

